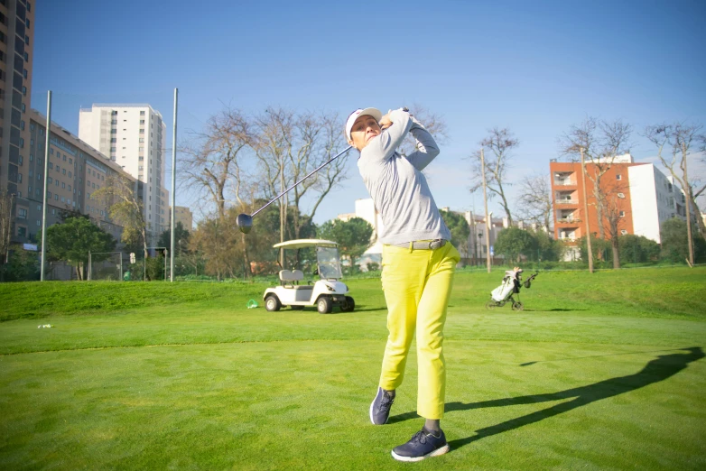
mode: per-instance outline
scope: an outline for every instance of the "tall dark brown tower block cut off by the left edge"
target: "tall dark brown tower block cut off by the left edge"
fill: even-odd
[[[33,45],[33,3],[0,0],[0,189],[16,196],[30,153]]]

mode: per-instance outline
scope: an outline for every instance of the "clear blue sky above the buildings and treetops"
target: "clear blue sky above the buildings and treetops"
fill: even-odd
[[[174,88],[180,143],[226,105],[344,117],[358,107],[424,106],[449,134],[428,167],[440,208],[482,212],[468,157],[494,126],[520,143],[512,199],[522,178],[548,173],[561,157],[558,138],[587,116],[632,125],[636,162],[655,162],[640,135],[646,125],[706,124],[702,0],[44,0],[35,12],[32,106],[46,113],[51,90],[52,121],[74,134],[81,107],[149,103],[171,148]],[[348,180],[314,222],[368,198],[351,155]],[[690,174],[706,180],[701,157]],[[168,169],[168,189],[171,178]],[[176,204],[202,217],[203,203],[177,189]],[[497,201],[489,208],[502,213]]]

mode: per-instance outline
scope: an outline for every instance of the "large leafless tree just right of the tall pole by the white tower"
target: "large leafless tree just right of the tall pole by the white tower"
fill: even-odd
[[[204,129],[181,147],[180,179],[186,189],[207,196],[225,217],[226,201],[235,199],[241,206],[246,174],[246,150],[252,134],[251,125],[237,109],[225,107],[209,117]]]

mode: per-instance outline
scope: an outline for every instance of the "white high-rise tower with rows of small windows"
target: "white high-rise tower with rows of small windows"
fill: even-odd
[[[163,188],[166,125],[162,115],[147,104],[94,104],[80,110],[79,139],[144,182],[144,220],[147,231],[158,237],[169,217],[168,193]]]

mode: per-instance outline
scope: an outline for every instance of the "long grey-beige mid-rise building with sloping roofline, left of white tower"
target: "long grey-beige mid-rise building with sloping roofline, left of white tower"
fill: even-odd
[[[18,173],[16,213],[13,242],[36,243],[42,233],[42,204],[44,201],[44,155],[46,116],[36,110],[30,112],[27,126],[28,156]],[[78,211],[88,215],[94,224],[102,227],[119,242],[122,226],[110,219],[107,208],[90,199],[93,191],[105,186],[108,177],[124,174],[141,191],[142,182],[127,175],[106,155],[79,140],[69,131],[51,123],[49,138],[49,165],[47,172],[47,226],[60,222],[62,210]]]

